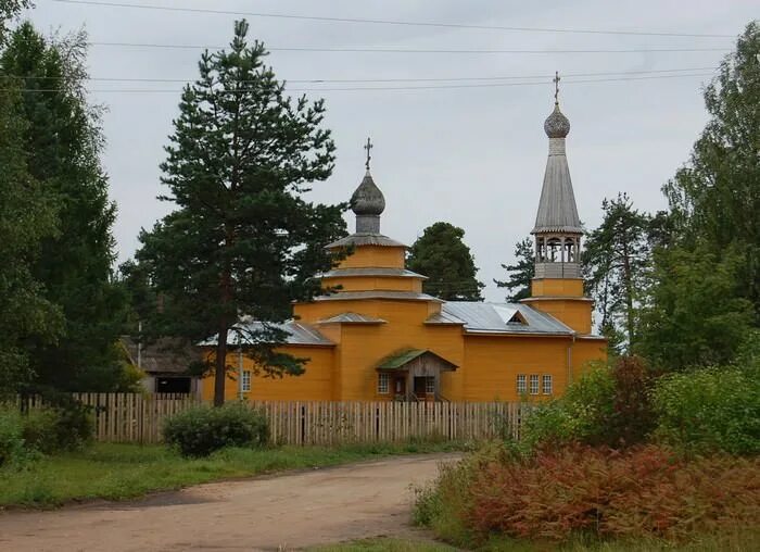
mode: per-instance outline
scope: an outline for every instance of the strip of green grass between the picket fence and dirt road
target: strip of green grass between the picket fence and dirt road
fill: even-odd
[[[92,499],[126,500],[219,479],[326,467],[393,454],[460,450],[455,443],[227,449],[183,459],[166,447],[96,443],[43,457],[25,469],[0,469],[0,509],[52,507]]]

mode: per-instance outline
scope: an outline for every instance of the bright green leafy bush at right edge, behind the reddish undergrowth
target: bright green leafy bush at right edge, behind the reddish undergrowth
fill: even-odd
[[[760,369],[670,374],[653,390],[655,437],[692,452],[760,454]]]

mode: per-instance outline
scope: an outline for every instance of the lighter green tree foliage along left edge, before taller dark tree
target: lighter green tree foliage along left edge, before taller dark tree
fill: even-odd
[[[14,396],[35,374],[28,340],[54,342],[60,310],[35,278],[42,240],[55,233],[53,198],[27,168],[20,139],[27,123],[20,116],[17,83],[0,76],[0,397]]]

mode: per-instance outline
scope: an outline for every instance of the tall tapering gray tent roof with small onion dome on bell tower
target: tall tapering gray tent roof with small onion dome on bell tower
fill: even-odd
[[[559,111],[558,105],[546,120],[544,128],[549,136],[549,155],[546,160],[535,226],[531,234],[583,234],[565,154],[565,136],[570,131],[570,122]]]

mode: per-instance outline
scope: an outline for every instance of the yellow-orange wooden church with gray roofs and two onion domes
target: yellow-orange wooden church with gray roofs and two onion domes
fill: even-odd
[[[351,252],[319,275],[325,289],[293,304],[280,350],[306,357],[301,376],[256,376],[230,346],[226,398],[252,401],[517,401],[561,394],[588,365],[606,359],[584,296],[578,216],[566,137],[555,101],[544,123],[548,159],[535,226],[531,297],[518,303],[442,301],[422,292],[426,276],[406,269],[407,247],[381,234],[385,199],[369,171],[351,198],[356,231],[328,247]],[[248,324],[256,324],[249,322]],[[238,339],[230,334],[230,343]],[[204,343],[211,351],[213,341]],[[243,348],[245,344],[243,343]],[[213,376],[201,381],[214,394]]]

